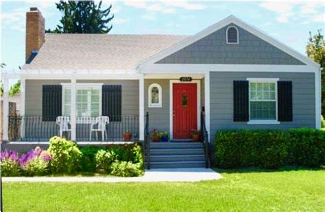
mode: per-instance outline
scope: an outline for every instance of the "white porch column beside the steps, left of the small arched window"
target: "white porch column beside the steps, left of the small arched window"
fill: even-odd
[[[145,140],[145,79],[139,77],[139,139]]]

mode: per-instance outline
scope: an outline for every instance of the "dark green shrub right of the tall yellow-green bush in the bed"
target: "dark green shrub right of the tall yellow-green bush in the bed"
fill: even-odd
[[[80,168],[83,172],[95,172],[96,170],[96,153],[102,148],[96,146],[86,146],[80,148],[82,159],[80,161]]]

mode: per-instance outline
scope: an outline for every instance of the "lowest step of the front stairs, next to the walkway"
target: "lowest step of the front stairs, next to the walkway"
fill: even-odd
[[[205,168],[205,161],[151,162],[151,168]]]

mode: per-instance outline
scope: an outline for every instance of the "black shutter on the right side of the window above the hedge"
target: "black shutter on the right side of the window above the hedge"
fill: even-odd
[[[278,121],[292,122],[292,82],[278,81]]]

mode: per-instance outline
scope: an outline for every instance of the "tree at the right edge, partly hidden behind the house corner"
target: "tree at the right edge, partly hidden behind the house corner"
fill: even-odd
[[[306,46],[306,53],[309,58],[313,59],[315,62],[319,63],[322,67],[322,115],[325,115],[325,42],[324,36],[322,35],[322,30],[317,30],[317,34],[311,36]]]

